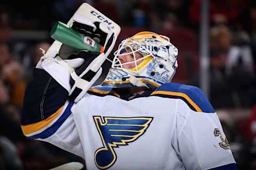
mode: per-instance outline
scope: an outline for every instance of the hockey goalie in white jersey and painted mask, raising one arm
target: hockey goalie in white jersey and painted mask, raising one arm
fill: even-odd
[[[178,49],[168,37],[147,31],[127,37],[105,80],[93,86],[119,32],[99,20],[70,23],[104,51],[73,52],[53,43],[26,89],[21,128],[27,137],[81,156],[86,169],[237,169],[202,90],[171,82]]]

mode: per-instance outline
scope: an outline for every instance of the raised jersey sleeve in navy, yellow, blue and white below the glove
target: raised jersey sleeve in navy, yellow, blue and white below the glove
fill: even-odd
[[[34,69],[21,113],[21,129],[33,139],[47,141],[84,157],[71,114],[68,91],[43,69]]]

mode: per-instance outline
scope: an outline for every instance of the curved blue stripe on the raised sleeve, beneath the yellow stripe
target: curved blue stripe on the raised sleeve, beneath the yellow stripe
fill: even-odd
[[[70,109],[73,106],[73,104],[74,103],[70,102],[68,104],[68,106],[66,107],[65,111],[63,112],[63,114],[59,117],[59,119],[55,123],[53,123],[49,128],[47,128],[46,130],[44,130],[41,133],[32,135],[29,138],[45,139],[45,138],[48,138],[51,135],[53,135],[60,128],[60,126],[66,121],[66,119],[69,117],[69,115],[71,114]]]

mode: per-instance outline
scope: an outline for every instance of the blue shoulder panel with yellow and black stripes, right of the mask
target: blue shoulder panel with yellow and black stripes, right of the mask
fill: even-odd
[[[151,96],[179,98],[196,112],[215,113],[204,92],[195,86],[178,83],[166,83],[157,88]]]

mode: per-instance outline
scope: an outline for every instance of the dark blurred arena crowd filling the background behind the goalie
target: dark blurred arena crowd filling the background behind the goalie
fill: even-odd
[[[16,30],[46,31],[56,21],[67,22],[87,2],[121,25],[117,44],[140,31],[170,37],[179,49],[173,82],[200,87],[199,36],[202,0],[18,1],[0,5],[0,169],[49,169],[82,158],[48,143],[26,138],[20,112],[27,83],[41,50],[53,39],[17,38]],[[32,6],[32,7],[31,7]],[[232,124],[221,119],[241,169],[256,169],[256,2],[209,1],[210,94],[214,109],[238,109]],[[243,110],[249,111],[244,114]],[[233,148],[232,148],[233,146]]]

